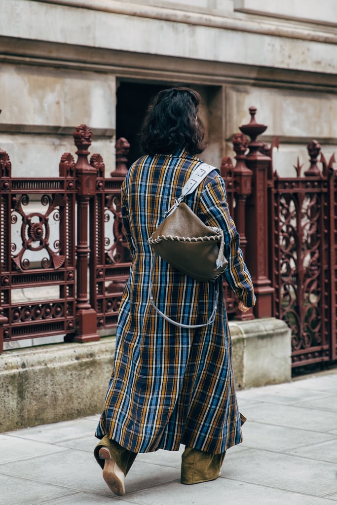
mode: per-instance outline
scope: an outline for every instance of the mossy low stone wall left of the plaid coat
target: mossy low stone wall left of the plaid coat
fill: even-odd
[[[0,431],[101,412],[114,339],[6,351],[0,356]]]

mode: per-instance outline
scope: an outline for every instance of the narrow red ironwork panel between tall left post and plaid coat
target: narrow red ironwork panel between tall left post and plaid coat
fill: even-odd
[[[116,142],[116,170],[104,177],[104,162],[93,155],[97,170],[96,194],[90,207],[90,304],[97,312],[98,330],[116,327],[124,286],[130,271],[130,254],[123,234],[121,186],[127,174],[126,139]]]

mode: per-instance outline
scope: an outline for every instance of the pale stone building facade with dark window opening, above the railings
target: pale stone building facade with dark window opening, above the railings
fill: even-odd
[[[206,105],[204,160],[233,154],[248,108],[278,135],[274,166],[293,175],[306,144],[337,140],[335,0],[0,0],[0,133],[13,175],[56,175],[85,123],[114,165],[158,89],[194,86]]]

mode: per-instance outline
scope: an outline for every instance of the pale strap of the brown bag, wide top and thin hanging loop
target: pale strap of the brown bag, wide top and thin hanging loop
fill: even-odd
[[[194,170],[192,170],[191,175],[189,176],[186,184],[182,188],[180,196],[175,200],[174,205],[167,211],[165,217],[168,215],[172,214],[176,208],[181,204],[182,200],[187,196],[188,194],[193,193],[199,184],[207,177],[207,175],[212,172],[213,170],[216,170],[219,172],[219,169],[216,167],[212,167],[212,165],[207,165],[206,163],[201,163],[198,167],[196,167]],[[219,292],[216,290],[215,291],[215,299],[214,299],[214,306],[212,310],[212,314],[209,317],[207,323],[204,324],[182,324],[178,323],[177,321],[174,321],[173,319],[170,319],[168,316],[166,316],[161,310],[158,309],[156,306],[154,299],[153,299],[153,293],[152,293],[152,276],[153,272],[155,269],[155,264],[156,260],[158,258],[158,253],[155,252],[152,265],[151,265],[151,274],[150,274],[150,302],[152,307],[155,309],[155,311],[162,316],[166,321],[168,321],[171,324],[174,324],[175,326],[179,326],[179,328],[202,328],[203,326],[208,326],[210,324],[214,323],[215,320],[215,314],[216,314],[216,309],[218,306],[218,299],[219,299]]]

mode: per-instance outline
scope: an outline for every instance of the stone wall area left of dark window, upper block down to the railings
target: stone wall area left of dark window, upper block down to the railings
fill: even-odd
[[[94,72],[0,65],[1,148],[13,177],[57,177],[63,153],[76,160],[72,132],[87,124],[90,153],[100,153],[107,176],[115,166],[115,76]]]

